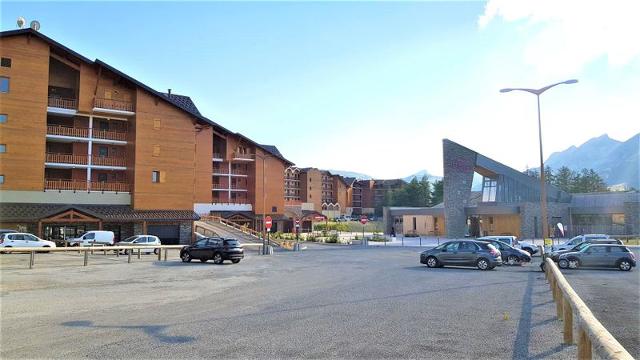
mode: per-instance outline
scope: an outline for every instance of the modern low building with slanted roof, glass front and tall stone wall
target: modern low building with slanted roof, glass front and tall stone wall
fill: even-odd
[[[443,140],[443,167],[444,202],[432,208],[385,208],[387,232],[393,227],[396,233],[448,238],[543,236],[538,179],[447,139]],[[472,191],[474,174],[482,177],[480,191]],[[569,194],[547,184],[546,193],[549,228],[562,223],[565,236],[640,234],[637,191]]]

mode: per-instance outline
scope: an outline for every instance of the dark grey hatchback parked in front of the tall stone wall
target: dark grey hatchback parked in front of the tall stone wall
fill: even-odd
[[[480,270],[491,270],[502,265],[500,251],[482,241],[448,241],[420,254],[420,263],[430,268],[445,265],[476,266]]]

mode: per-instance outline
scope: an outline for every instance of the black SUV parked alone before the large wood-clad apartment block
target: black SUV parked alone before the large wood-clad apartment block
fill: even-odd
[[[237,264],[244,258],[244,250],[238,240],[204,238],[182,248],[180,258],[183,262],[199,259],[202,262],[213,260],[215,264],[222,264],[225,260],[231,260]]]

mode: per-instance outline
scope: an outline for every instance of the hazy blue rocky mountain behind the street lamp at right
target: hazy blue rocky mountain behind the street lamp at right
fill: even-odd
[[[576,147],[555,152],[545,161],[554,170],[594,169],[607,185],[627,184],[640,188],[640,133],[627,141],[611,139],[607,134]]]

